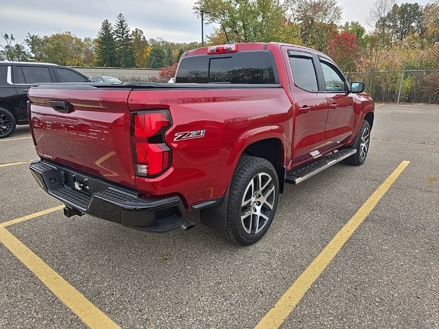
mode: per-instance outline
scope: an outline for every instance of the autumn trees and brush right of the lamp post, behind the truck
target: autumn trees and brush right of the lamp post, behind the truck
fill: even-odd
[[[439,67],[439,0],[427,5],[377,0],[367,17],[340,25],[336,0],[197,0],[194,13],[209,8],[208,23],[219,26],[213,44],[279,41],[329,54],[344,71]]]

